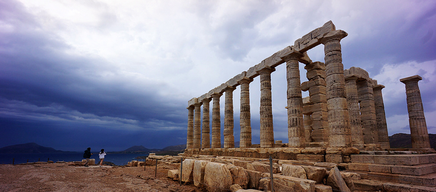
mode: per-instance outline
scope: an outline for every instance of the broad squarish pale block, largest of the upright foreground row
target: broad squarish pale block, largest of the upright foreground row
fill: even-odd
[[[225,164],[207,163],[204,169],[204,184],[208,192],[227,192],[232,183],[232,174]]]

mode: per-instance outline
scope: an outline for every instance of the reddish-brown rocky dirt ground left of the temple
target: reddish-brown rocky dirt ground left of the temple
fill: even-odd
[[[70,165],[68,165],[70,164]],[[0,165],[0,192],[204,192],[167,177],[180,163],[155,166],[71,166],[71,163]]]

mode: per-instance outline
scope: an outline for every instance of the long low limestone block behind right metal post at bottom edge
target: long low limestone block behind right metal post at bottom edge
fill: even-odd
[[[259,190],[270,191],[269,174],[262,174],[259,182]],[[273,175],[274,192],[315,192],[315,181],[284,175]]]

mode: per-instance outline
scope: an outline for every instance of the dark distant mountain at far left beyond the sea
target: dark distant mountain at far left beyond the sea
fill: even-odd
[[[43,147],[33,142],[18,144],[18,145],[10,145],[0,148],[0,154],[16,154],[16,153],[71,153],[71,152],[55,150],[51,147]]]

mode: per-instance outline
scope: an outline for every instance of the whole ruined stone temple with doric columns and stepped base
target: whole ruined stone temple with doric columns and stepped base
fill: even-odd
[[[210,177],[207,173],[211,170],[203,169],[218,169],[223,165],[229,168],[230,164],[241,167],[249,175],[249,184],[240,185],[241,189],[270,190],[267,184],[261,186],[262,182],[269,182],[262,179],[269,177],[261,175],[271,170],[268,166],[267,171],[262,171],[263,168],[257,164],[271,157],[274,166],[280,168],[276,171],[279,175],[274,175],[274,182],[276,178],[284,181],[298,177],[293,175],[296,172],[286,172],[290,166],[297,167],[292,169],[302,167],[305,170],[303,179],[308,180],[306,187],[309,187],[296,191],[436,191],[436,153],[430,147],[418,87],[418,81],[422,78],[415,75],[400,80],[406,87],[412,148],[392,149],[389,146],[382,96],[385,86],[378,84],[363,69],[352,67],[344,70],[340,41],[347,35],[342,30],[336,30],[333,22],[329,21],[297,39],[294,45],[285,47],[247,71],[189,100],[187,141],[183,156],[188,158],[185,161],[192,161],[192,181],[195,183],[195,161],[199,161],[203,175],[197,179],[204,179],[201,180],[203,187],[209,191],[231,190],[230,186],[236,184],[235,178],[238,176],[232,174],[233,183],[227,182],[228,186],[216,188],[211,187],[214,182],[206,181]],[[321,44],[324,46],[324,62],[312,61],[306,52]],[[300,77],[300,63],[305,64],[306,81]],[[273,134],[271,74],[281,64],[286,65],[288,143],[274,140]],[[252,144],[250,119],[250,83],[256,77],[260,79],[260,144]],[[240,144],[235,148],[233,91],[237,86],[241,86]],[[309,97],[302,98],[302,91],[309,91]],[[219,102],[223,94],[224,127],[221,127]],[[212,127],[209,127],[210,124]],[[221,129],[224,133],[223,148]],[[212,138],[209,138],[210,131]],[[189,162],[186,162],[187,167]],[[260,164],[265,163],[269,164]],[[330,170],[327,175],[324,174],[324,179],[314,181],[309,178],[311,169],[321,168]],[[340,175],[342,181],[347,183],[346,189],[340,186],[341,179],[336,183],[332,181],[331,175],[335,175],[332,172],[337,168],[342,170]],[[231,168],[229,170],[232,171]],[[344,176],[347,173],[349,176]],[[189,179],[183,178],[183,181],[189,182]],[[226,183],[224,180],[219,185]],[[294,184],[285,184],[279,180],[276,182],[279,183],[276,184],[278,187],[274,187],[276,192],[286,187],[287,190],[298,188],[295,181]],[[300,180],[298,182],[303,183]]]

